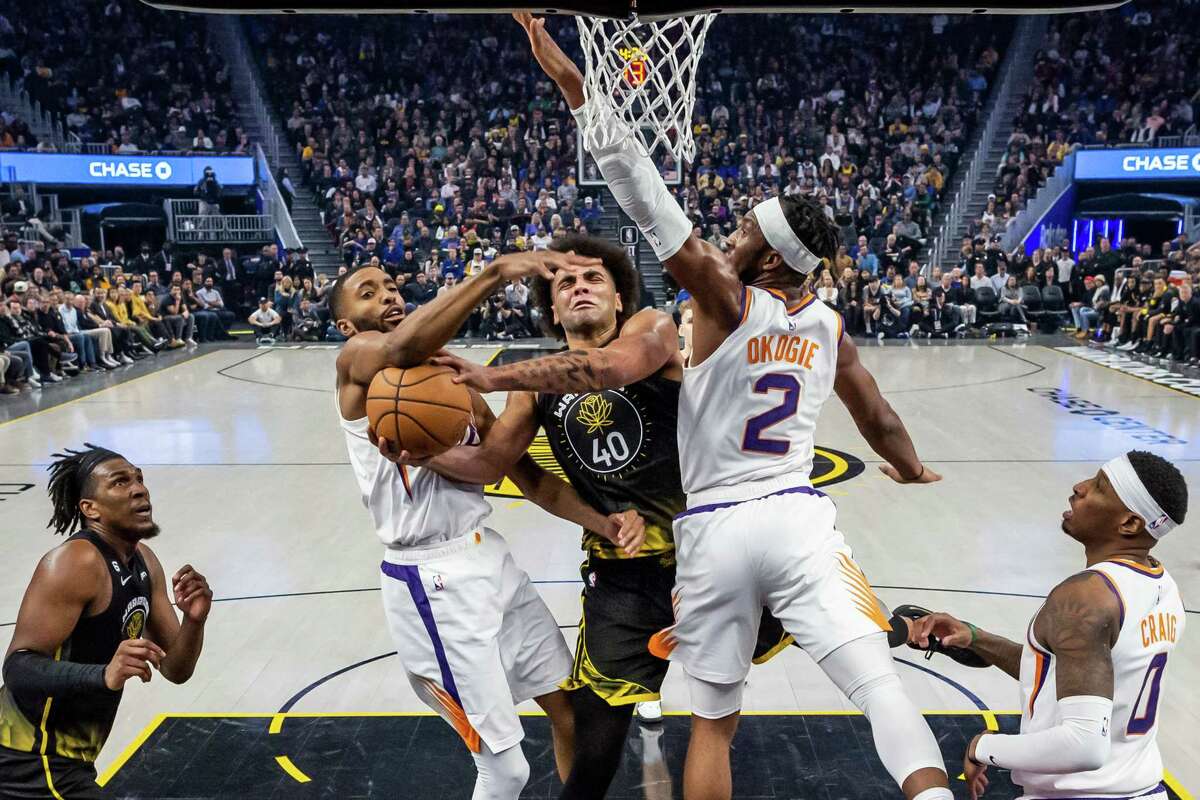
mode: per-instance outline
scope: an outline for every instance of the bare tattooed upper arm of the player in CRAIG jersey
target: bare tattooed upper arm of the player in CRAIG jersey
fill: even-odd
[[[1037,633],[1054,652],[1058,699],[1112,697],[1112,644],[1120,606],[1094,573],[1068,578],[1046,599]]]

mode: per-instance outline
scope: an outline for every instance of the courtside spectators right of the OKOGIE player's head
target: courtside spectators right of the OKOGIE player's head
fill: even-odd
[[[874,266],[874,265],[872,265]],[[1099,239],[1075,258],[1068,242],[1025,253],[967,237],[953,266],[926,277],[916,259],[860,269],[839,255],[812,278],[817,299],[852,335],[950,338],[1007,323],[1009,332],[1073,332],[1079,339],[1200,366],[1200,242],[1156,249]],[[994,329],[996,330],[996,329]]]

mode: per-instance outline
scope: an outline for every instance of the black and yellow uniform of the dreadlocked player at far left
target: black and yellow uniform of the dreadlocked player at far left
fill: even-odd
[[[134,553],[126,565],[96,534],[71,540],[91,542],[108,566],[113,600],[94,616],[82,616],[54,654],[55,661],[107,664],[124,639],[142,638],[150,619],[150,571]],[[18,693],[0,686],[0,746],[41,756],[95,762],[116,718],[121,692],[100,690],[70,698]]]

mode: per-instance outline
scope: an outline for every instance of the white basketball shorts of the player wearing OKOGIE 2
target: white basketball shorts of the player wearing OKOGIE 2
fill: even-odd
[[[676,624],[652,651],[733,684],[750,672],[763,606],[816,661],[890,630],[835,518],[833,500],[808,486],[676,517]]]

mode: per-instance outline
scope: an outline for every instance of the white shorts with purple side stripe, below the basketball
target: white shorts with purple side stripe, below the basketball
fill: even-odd
[[[546,603],[499,534],[389,549],[383,606],[413,690],[472,752],[524,736],[516,705],[553,692],[571,654]]]

